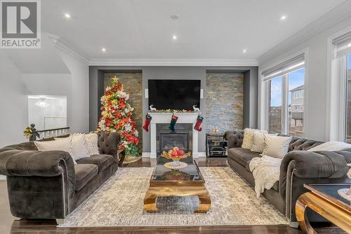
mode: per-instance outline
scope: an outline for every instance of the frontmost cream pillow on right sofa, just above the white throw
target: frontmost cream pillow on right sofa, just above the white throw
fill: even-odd
[[[293,137],[279,137],[265,134],[265,149],[262,155],[283,158],[289,150],[289,144]]]

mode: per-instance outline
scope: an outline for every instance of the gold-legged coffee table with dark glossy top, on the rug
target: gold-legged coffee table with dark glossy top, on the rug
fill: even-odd
[[[178,196],[198,196],[200,203],[195,213],[206,213],[211,209],[211,198],[195,161],[180,170],[168,169],[163,164],[157,165],[145,194],[144,209],[146,212],[158,212],[157,197]]]

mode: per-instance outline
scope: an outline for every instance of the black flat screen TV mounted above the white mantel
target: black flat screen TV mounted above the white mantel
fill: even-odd
[[[192,110],[200,106],[199,80],[149,80],[149,106],[156,109]]]

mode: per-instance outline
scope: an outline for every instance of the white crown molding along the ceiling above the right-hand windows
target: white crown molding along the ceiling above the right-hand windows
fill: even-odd
[[[274,46],[274,48],[271,48],[263,55],[260,55],[257,60],[258,65],[263,65],[266,62],[273,60],[274,57],[286,53],[291,48],[298,46],[300,43],[307,41],[329,27],[336,25],[338,22],[345,20],[345,18],[350,17],[350,9],[351,1],[346,0],[343,2],[343,4],[336,6],[331,11],[312,22],[310,25],[307,25],[296,34],[293,34],[293,36],[290,36],[288,39],[282,41],[282,43]]]

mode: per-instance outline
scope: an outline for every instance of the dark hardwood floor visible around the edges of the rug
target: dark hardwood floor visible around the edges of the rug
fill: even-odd
[[[199,158],[197,160],[200,167],[227,167],[226,158]],[[123,167],[153,167],[156,160],[142,158],[138,162],[124,165]],[[196,233],[303,233],[299,229],[289,226],[167,226],[167,227],[102,227],[102,228],[56,228],[55,220],[19,220],[11,215],[8,206],[8,194],[6,180],[0,180],[0,234],[12,233],[60,233],[60,234],[196,234]],[[340,228],[329,223],[318,224],[315,228],[318,233],[336,234],[345,233]]]

